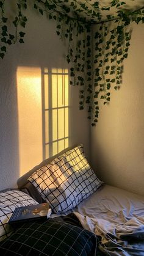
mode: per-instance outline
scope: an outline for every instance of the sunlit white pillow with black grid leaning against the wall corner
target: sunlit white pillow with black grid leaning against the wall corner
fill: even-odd
[[[55,158],[28,180],[58,214],[73,209],[103,184],[88,164],[82,144]]]

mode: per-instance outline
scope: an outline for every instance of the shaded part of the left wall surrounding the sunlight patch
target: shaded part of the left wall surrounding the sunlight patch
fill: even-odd
[[[67,45],[56,35],[56,23],[29,10],[24,45],[12,45],[0,60],[0,189],[16,187],[20,177],[16,69],[22,67],[67,68]],[[79,111],[78,88],[71,89],[70,145],[83,142],[89,152],[87,113]],[[29,156],[31,157],[31,156]],[[42,160],[42,159],[41,159]],[[37,159],[35,159],[35,165]]]

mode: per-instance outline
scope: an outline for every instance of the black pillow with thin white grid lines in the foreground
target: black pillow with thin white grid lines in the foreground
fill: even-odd
[[[57,220],[26,222],[0,243],[1,255],[95,255],[94,233]]]

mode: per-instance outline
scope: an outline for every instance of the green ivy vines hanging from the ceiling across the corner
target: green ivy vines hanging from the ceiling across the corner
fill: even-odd
[[[10,1],[10,0],[9,0]],[[135,0],[131,0],[136,2]],[[24,43],[27,23],[27,0],[15,0],[16,13],[8,26],[7,0],[0,1],[0,57],[7,46]],[[144,6],[131,10],[120,0],[35,0],[33,7],[40,15],[57,23],[56,33],[68,40],[67,62],[70,63],[70,85],[79,86],[79,108],[87,108],[88,119],[95,126],[99,117],[99,98],[110,101],[110,89],[119,89],[122,82],[123,60],[128,57],[132,21],[144,23]],[[115,12],[115,15],[111,13]],[[104,17],[104,18],[103,18]]]

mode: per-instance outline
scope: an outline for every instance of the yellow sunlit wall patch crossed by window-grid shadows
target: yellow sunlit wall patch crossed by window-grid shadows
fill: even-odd
[[[69,92],[68,70],[45,68],[45,158],[68,147]],[[48,125],[49,123],[49,125]]]

